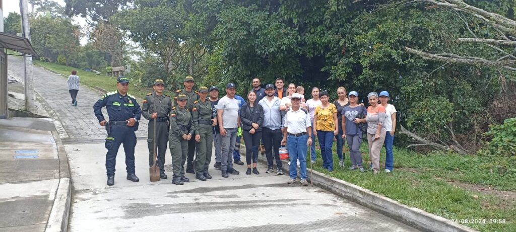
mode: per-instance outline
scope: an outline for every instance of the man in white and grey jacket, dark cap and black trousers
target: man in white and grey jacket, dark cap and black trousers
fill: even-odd
[[[262,142],[265,146],[265,156],[267,157],[267,170],[265,173],[274,172],[272,161],[276,159],[278,175],[283,175],[279,151],[283,115],[280,110],[280,99],[274,96],[274,91],[273,85],[268,84],[265,86],[267,96],[258,103],[262,106],[264,112]]]

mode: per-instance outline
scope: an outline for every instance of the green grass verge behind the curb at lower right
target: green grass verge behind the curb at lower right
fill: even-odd
[[[362,144],[361,152],[364,166],[367,166],[366,141]],[[473,192],[448,183],[461,181],[486,188],[492,186],[497,190],[516,190],[516,173],[511,171],[516,165],[516,158],[443,153],[422,155],[395,148],[394,172],[374,175],[373,172],[350,171],[348,152],[346,167],[339,168],[335,147],[333,154],[333,172],[329,173],[321,167],[319,151],[314,170],[480,231],[516,231],[515,199]],[[384,149],[380,160],[383,171]]]

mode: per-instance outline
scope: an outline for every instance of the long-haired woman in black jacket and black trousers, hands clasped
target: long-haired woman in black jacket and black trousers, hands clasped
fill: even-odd
[[[258,146],[262,139],[263,108],[256,102],[256,93],[250,91],[247,94],[247,104],[240,109],[240,121],[246,143],[247,175],[251,175],[251,163],[253,173],[258,175],[256,169],[258,161]]]

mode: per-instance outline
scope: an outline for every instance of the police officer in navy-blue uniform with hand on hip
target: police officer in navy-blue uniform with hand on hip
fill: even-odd
[[[100,100],[93,105],[95,117],[101,126],[107,130],[106,138],[106,170],[107,185],[115,184],[115,162],[120,144],[124,144],[125,165],[127,179],[138,182],[134,167],[134,147],[136,146],[136,135],[138,129],[141,109],[134,96],[127,93],[129,79],[123,76],[117,79],[117,91],[112,91],[101,96]],[[109,122],[104,119],[102,108],[106,107]]]

